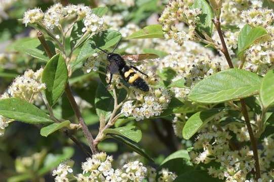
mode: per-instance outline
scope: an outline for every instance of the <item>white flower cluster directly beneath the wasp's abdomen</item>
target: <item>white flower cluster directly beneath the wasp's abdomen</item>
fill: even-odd
[[[169,91],[161,87],[151,89],[145,96],[137,91],[132,99],[122,106],[121,113],[126,117],[133,116],[136,121],[159,116],[171,101]]]

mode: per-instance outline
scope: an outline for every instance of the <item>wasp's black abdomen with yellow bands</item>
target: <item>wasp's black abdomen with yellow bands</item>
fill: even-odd
[[[146,84],[146,82],[142,78],[140,78],[139,74],[136,73],[133,69],[129,69],[128,71],[126,71],[124,73],[124,77],[126,81],[128,81],[130,84],[132,84],[136,88],[139,88],[143,90],[144,92],[149,91],[149,87]]]

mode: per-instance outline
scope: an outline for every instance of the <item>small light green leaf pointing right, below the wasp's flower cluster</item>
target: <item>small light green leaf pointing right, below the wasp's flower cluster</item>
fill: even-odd
[[[140,129],[136,129],[136,126],[124,126],[119,128],[108,128],[104,130],[105,134],[116,134],[124,136],[136,143],[142,139],[142,132]]]

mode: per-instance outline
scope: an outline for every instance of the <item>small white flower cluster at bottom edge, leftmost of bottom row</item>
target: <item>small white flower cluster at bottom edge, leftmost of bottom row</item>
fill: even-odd
[[[56,176],[55,181],[56,182],[68,182],[69,173],[72,174],[73,170],[71,166],[67,165],[66,163],[59,164],[59,166],[52,171],[52,175]]]

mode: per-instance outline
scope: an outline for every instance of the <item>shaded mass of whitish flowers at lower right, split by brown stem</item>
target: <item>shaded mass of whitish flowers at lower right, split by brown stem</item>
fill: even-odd
[[[194,143],[194,151],[190,152],[190,158],[196,164],[218,162],[221,167],[208,168],[208,173],[213,177],[225,179],[226,182],[246,181],[255,167],[253,152],[246,145],[235,149],[237,146],[230,143],[230,131],[236,134],[237,141],[246,142],[249,141],[247,129],[243,125],[231,124],[222,130],[217,130],[214,124],[208,124],[203,128]],[[274,159],[274,140],[271,137],[265,138],[262,147],[262,150],[258,150],[261,179],[269,181],[273,179],[270,163]]]

